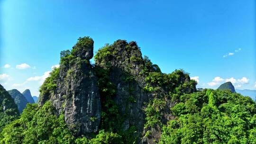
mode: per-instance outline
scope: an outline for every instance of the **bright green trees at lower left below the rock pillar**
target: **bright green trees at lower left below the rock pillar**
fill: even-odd
[[[0,133],[1,144],[123,144],[120,135],[101,130],[91,140],[75,138],[67,128],[64,115],[55,115],[55,108],[47,101],[42,108],[27,104],[21,117]]]

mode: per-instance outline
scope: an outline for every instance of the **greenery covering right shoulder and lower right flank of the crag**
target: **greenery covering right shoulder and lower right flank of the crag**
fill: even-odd
[[[195,91],[197,83],[190,80],[189,74],[183,70],[175,70],[170,74],[165,74],[155,69],[154,67],[158,68],[158,66],[153,66],[147,57],[144,59],[147,66],[144,69],[144,73],[147,75],[145,78],[147,83],[144,89],[153,92],[155,96],[153,100],[149,101],[145,109],[145,129],[149,131],[152,128],[161,129],[163,126],[161,118],[166,107],[166,99],[176,101],[182,94]],[[151,72],[149,71],[150,69]],[[169,93],[164,93],[162,87],[165,87]]]

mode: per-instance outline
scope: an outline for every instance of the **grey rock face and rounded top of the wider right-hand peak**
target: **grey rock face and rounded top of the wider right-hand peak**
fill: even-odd
[[[143,109],[152,97],[151,93],[143,90],[145,78],[139,74],[141,67],[144,67],[142,54],[136,42],[127,43],[125,40],[117,40],[112,45],[112,51],[110,53],[118,56],[106,56],[105,61],[111,64],[110,81],[117,86],[114,101],[121,115],[125,116],[124,130],[135,126],[136,135],[141,136],[146,117]],[[104,63],[96,64],[104,67]]]

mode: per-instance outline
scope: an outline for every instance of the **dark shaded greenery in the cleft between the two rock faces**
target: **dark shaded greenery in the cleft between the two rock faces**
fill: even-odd
[[[106,67],[108,66],[106,65]],[[122,128],[124,118],[120,114],[119,108],[115,103],[115,101],[113,100],[113,97],[116,94],[116,86],[110,82],[110,69],[101,68],[99,66],[95,66],[94,69],[95,69],[96,75],[99,78],[97,81],[97,84],[99,86],[100,95],[101,95],[101,127],[100,128],[103,130],[103,132],[106,131],[113,136],[119,135],[118,136],[119,141],[116,141],[116,143],[113,143],[113,144],[135,143],[137,141],[137,138],[134,137],[133,134],[136,131],[136,127],[131,126],[126,131],[124,131]],[[117,134],[113,134],[113,131],[117,131]],[[100,134],[101,134],[101,131],[99,135]],[[99,143],[99,144],[110,144],[110,143]]]

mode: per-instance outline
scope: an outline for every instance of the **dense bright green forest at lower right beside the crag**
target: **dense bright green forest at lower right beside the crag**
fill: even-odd
[[[203,90],[179,100],[160,144],[256,144],[256,103],[249,97]]]

